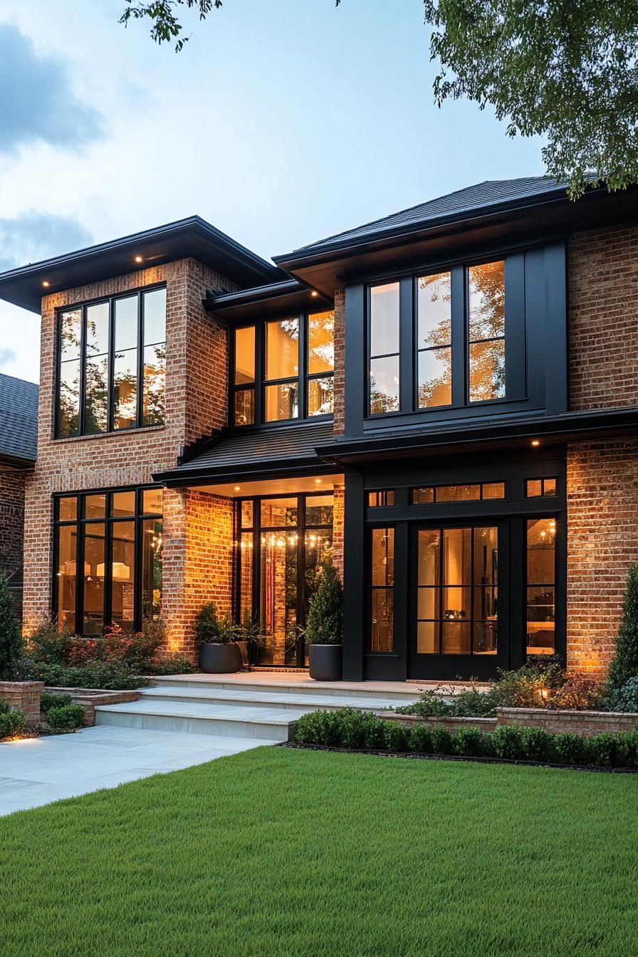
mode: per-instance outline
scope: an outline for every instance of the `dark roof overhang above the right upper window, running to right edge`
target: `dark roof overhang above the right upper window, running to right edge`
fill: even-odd
[[[557,189],[356,240],[336,239],[320,248],[307,247],[273,258],[287,273],[333,295],[344,281],[356,282],[375,272],[383,275],[396,269],[398,262],[402,268],[410,268],[410,264],[420,268],[424,262],[458,259],[473,247],[539,243],[539,239],[549,236],[634,222],[636,218],[637,187],[617,193],[603,188],[591,190],[576,202],[566,198],[564,189]]]

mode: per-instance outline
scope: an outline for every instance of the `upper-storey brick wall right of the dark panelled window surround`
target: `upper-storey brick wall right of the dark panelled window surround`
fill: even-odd
[[[567,264],[571,408],[638,405],[638,227],[574,234]]]

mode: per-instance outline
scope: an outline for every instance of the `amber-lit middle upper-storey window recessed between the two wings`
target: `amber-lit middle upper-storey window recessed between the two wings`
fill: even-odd
[[[316,312],[234,329],[236,426],[332,415],[335,317]]]

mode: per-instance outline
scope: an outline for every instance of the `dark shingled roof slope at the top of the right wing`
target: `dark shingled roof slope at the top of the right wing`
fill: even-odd
[[[416,228],[438,219],[448,219],[499,205],[506,206],[528,197],[538,198],[545,193],[564,193],[566,188],[565,183],[559,183],[545,176],[525,176],[516,180],[485,180],[484,183],[457,189],[455,192],[448,193],[447,196],[430,199],[427,203],[394,212],[382,219],[374,219],[356,229],[319,239],[318,242],[296,249],[292,255],[319,253],[333,246],[364,241],[372,236],[391,233],[395,230],[409,230],[411,227]],[[285,258],[286,256],[275,256],[275,261]]]

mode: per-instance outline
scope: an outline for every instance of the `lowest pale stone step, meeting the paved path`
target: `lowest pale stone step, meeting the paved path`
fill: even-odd
[[[203,701],[141,698],[96,707],[96,724],[138,727],[151,731],[263,739],[264,744],[290,741],[303,708],[256,708]]]

